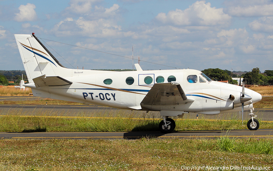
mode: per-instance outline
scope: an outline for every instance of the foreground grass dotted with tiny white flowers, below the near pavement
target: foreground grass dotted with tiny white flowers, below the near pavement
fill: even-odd
[[[181,170],[181,166],[269,167],[272,139],[0,140],[0,170]],[[268,144],[253,151],[258,144]],[[238,146],[240,145],[240,146]],[[242,149],[243,147],[247,147]],[[264,150],[262,150],[264,149]],[[196,169],[194,169],[196,170]]]

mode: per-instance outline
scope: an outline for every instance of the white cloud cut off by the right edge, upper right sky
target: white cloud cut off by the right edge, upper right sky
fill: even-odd
[[[271,33],[273,31],[273,17],[261,17],[249,23],[248,26],[253,31]]]

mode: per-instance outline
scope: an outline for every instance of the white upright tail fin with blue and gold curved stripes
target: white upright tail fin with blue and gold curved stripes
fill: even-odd
[[[15,34],[29,83],[41,75],[61,76],[66,69],[34,35]]]

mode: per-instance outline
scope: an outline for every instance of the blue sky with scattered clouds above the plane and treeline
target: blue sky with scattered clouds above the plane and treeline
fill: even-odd
[[[132,69],[134,46],[143,70],[273,70],[269,0],[0,0],[0,70],[24,70],[14,34],[32,32],[68,68]]]

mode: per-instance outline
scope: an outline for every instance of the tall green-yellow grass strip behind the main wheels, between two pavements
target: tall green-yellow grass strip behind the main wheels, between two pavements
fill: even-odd
[[[158,112],[144,114],[141,111],[98,110],[71,115],[67,111],[35,109],[35,116],[22,109],[0,110],[0,132],[111,132],[158,131],[161,121]],[[144,119],[145,118],[145,119]],[[176,131],[247,129],[247,121],[205,119],[177,119]],[[187,117],[186,117],[187,118]],[[273,128],[273,122],[260,122],[260,129]]]

